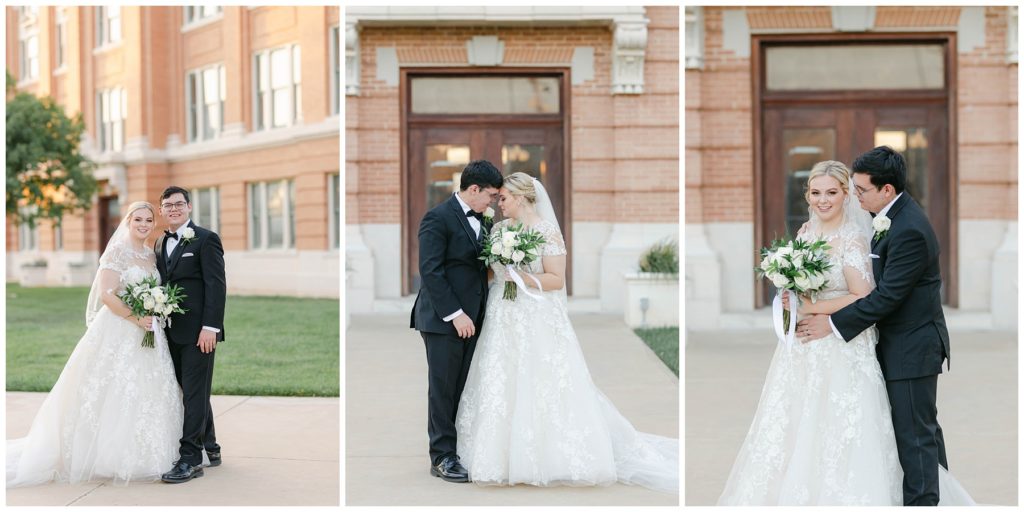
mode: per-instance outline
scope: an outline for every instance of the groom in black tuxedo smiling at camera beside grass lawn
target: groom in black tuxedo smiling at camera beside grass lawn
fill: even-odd
[[[203,476],[204,450],[210,466],[220,465],[210,385],[214,350],[218,341],[224,341],[224,249],[217,233],[189,220],[188,190],[178,186],[164,190],[160,213],[170,226],[154,247],[160,279],[181,287],[185,295],[181,304],[185,313],[172,314],[165,329],[184,402],[180,458],[161,477],[180,483]]]

